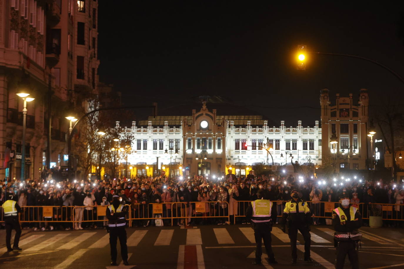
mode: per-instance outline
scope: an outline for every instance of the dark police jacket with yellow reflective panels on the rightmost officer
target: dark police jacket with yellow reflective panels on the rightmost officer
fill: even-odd
[[[356,207],[349,206],[345,209],[339,206],[332,210],[332,226],[335,230],[335,240],[359,240],[362,237],[358,232],[362,226],[362,215]]]

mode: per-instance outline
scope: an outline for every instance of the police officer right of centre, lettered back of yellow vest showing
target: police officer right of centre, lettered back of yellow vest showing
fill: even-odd
[[[276,213],[276,204],[264,199],[264,191],[257,192],[258,200],[252,201],[246,209],[247,219],[251,219],[252,226],[254,227],[255,243],[257,248],[255,250],[254,265],[261,265],[262,255],[262,239],[264,240],[265,249],[267,250],[269,263],[278,263],[275,260],[274,252],[271,246],[271,230],[274,218],[278,215]]]

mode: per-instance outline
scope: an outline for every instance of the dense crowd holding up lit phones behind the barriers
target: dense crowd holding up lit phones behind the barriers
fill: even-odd
[[[387,219],[404,219],[402,184],[385,182],[382,179],[368,181],[363,177],[342,177],[326,181],[292,175],[255,176],[252,171],[247,176],[238,177],[229,171],[223,177],[194,176],[169,179],[159,176],[91,182],[57,181],[47,176],[39,181],[14,180],[8,182],[7,186],[8,197],[12,197],[24,209],[20,217],[23,220],[23,228],[35,230],[105,227],[105,207],[102,208],[103,213],[97,210],[97,207],[109,205],[114,195],[120,196],[122,204],[130,205],[133,226],[171,225],[172,218],[174,225],[221,225],[233,223],[234,220],[236,223],[246,223],[247,219],[243,216],[248,202],[236,202],[257,199],[257,191],[260,189],[265,191],[266,199],[277,201],[279,214],[282,213],[286,201],[290,200],[292,190],[298,190],[303,200],[310,201],[314,225],[331,224],[331,218],[328,218],[331,215],[325,213],[324,203],[321,202],[337,203],[338,193],[342,191],[349,193],[354,206],[360,206],[364,218],[379,214]],[[0,190],[1,205],[5,201],[4,181],[0,181]],[[206,202],[204,210],[196,211],[195,202]],[[154,203],[163,203],[162,214],[153,213]],[[394,205],[391,210],[382,210],[382,206],[377,204]],[[53,206],[52,216],[36,206]],[[240,217],[235,219],[234,215]],[[156,217],[161,218],[163,223],[155,221]],[[386,221],[385,225],[397,226],[403,225],[402,223],[403,221]]]

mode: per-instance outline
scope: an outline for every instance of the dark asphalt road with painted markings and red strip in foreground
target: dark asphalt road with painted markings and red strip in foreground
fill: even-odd
[[[255,268],[334,268],[335,248],[330,226],[311,229],[311,257],[303,261],[303,237],[298,235],[298,263],[291,264],[288,237],[274,227],[272,246],[277,265]],[[363,227],[360,268],[404,268],[404,229]],[[3,230],[4,231],[4,230]],[[252,267],[255,244],[250,225],[127,228],[130,266],[112,268],[217,269]],[[4,233],[2,233],[4,234]],[[20,240],[21,252],[5,252],[0,242],[0,268],[109,268],[109,235],[105,229],[32,231]],[[264,250],[265,253],[265,250]],[[265,254],[263,255],[265,256]],[[121,263],[118,243],[118,263]],[[345,267],[350,268],[348,259]]]

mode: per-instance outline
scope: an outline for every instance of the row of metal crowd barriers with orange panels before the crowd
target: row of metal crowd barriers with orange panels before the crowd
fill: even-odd
[[[228,202],[208,201],[208,202],[168,202],[149,204],[125,204],[128,210],[129,227],[137,221],[155,221],[156,219],[167,220],[171,226],[175,224],[187,224],[191,219],[217,218],[218,220],[230,221],[230,216],[245,218],[245,211],[251,201],[236,201],[233,212],[229,212]],[[286,201],[272,201],[278,206],[277,217],[282,217],[282,212]],[[279,204],[278,204],[279,203]],[[311,217],[331,218],[333,209],[339,206],[338,202],[312,202],[307,201],[310,207]],[[363,219],[369,216],[381,215],[383,220],[403,221],[404,204],[364,204],[351,203],[358,207]],[[101,223],[105,226],[107,206],[21,206],[22,212],[19,214],[21,223]],[[234,215],[234,216],[233,216]],[[4,221],[2,208],[0,207],[0,222]],[[168,225],[166,221],[166,225]],[[175,222],[177,221],[177,222]],[[98,226],[98,225],[97,225]]]

